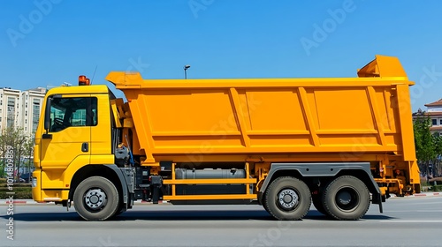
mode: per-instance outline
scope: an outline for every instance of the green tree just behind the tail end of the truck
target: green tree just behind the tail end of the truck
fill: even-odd
[[[431,119],[425,116],[425,112],[419,112],[415,115],[413,129],[415,131],[415,153],[419,168],[425,171],[425,175],[430,175],[430,162],[436,159],[435,138],[430,131]]]

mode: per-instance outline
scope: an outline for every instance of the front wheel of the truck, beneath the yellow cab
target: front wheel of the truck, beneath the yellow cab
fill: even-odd
[[[91,176],[79,184],[73,193],[73,203],[83,219],[104,221],[118,211],[118,190],[109,179]]]

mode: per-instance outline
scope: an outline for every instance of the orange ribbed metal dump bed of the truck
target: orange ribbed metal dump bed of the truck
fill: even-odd
[[[145,153],[146,162],[263,153],[382,153],[415,161],[413,82],[399,60],[376,56],[358,76],[142,79],[113,71],[106,79],[126,95],[140,145],[134,152]]]

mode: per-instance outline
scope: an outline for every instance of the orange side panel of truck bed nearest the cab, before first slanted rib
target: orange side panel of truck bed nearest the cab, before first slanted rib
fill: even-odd
[[[229,94],[228,89],[146,91],[138,101],[152,131],[240,131]]]

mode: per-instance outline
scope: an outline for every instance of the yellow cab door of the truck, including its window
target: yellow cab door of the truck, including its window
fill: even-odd
[[[90,161],[91,126],[96,98],[90,94],[53,95],[45,110],[42,135],[42,188],[63,188],[65,169],[73,162]]]

